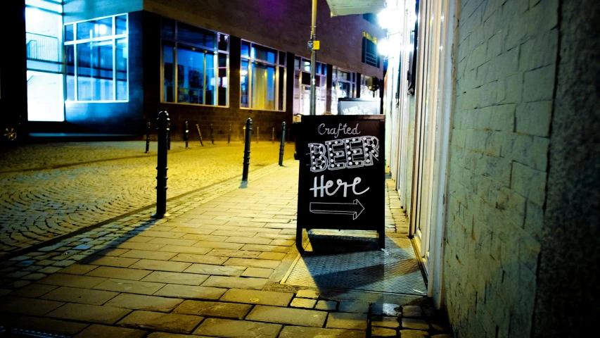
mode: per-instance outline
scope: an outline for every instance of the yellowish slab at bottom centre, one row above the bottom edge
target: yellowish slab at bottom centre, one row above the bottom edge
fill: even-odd
[[[324,311],[257,305],[245,319],[287,325],[322,327],[326,318],[327,313]]]

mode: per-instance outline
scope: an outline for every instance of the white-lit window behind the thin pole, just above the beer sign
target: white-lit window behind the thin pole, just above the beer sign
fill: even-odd
[[[314,74],[315,88],[315,113],[325,113],[327,65],[317,62]],[[294,105],[295,114],[309,115],[310,113],[310,60],[296,56],[294,58]]]

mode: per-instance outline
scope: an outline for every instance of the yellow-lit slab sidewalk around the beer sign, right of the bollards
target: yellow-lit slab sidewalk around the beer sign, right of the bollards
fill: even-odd
[[[169,201],[169,218],[143,211],[1,262],[0,325],[76,338],[452,337],[423,296],[281,284],[298,256],[298,163],[285,164],[245,189],[232,179]],[[386,236],[405,238],[392,184]]]

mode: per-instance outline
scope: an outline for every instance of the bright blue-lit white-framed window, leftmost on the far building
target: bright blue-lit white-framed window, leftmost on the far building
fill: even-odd
[[[127,101],[127,14],[65,25],[67,101]]]

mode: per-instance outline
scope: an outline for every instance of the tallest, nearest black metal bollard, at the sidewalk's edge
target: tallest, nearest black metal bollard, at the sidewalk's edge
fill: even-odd
[[[153,218],[169,216],[167,213],[167,144],[169,139],[169,113],[158,113],[158,164],[156,166],[156,213]]]

